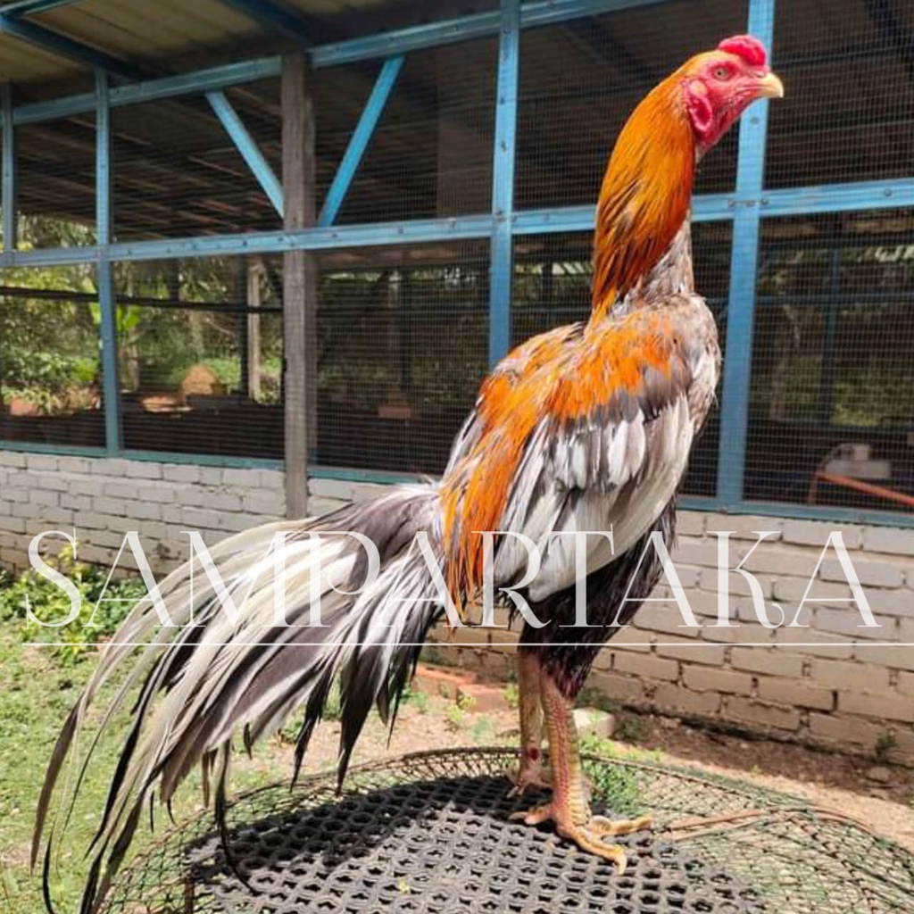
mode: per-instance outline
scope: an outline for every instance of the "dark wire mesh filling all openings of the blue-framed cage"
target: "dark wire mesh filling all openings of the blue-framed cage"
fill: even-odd
[[[473,9],[483,7],[495,5],[487,0]],[[463,7],[440,12],[449,11],[457,15]],[[399,12],[410,22],[418,15]],[[392,23],[399,13],[366,12],[363,25],[379,28],[384,16]],[[747,18],[745,0],[671,0],[525,29],[515,208],[591,205],[614,138],[644,93],[689,55],[745,31]],[[787,97],[770,106],[766,192],[792,189],[802,212],[817,185],[885,181],[874,192],[891,204],[891,182],[909,177],[914,161],[912,31],[914,0],[778,5],[773,66]],[[490,37],[407,55],[339,222],[490,211],[497,45]],[[376,60],[314,74],[318,206],[379,69]],[[280,80],[226,94],[281,175]],[[95,242],[94,126],[90,112],[16,129],[22,249]],[[116,108],[112,128],[117,240],[282,226],[203,96]],[[702,161],[699,193],[735,191],[738,133],[731,131]],[[769,218],[764,198],[759,202],[741,496],[750,502],[909,511],[914,219],[900,207]],[[730,316],[730,258],[739,263],[756,253],[731,255],[730,234],[723,222],[701,224],[695,232],[697,288],[716,311],[722,340]],[[586,314],[589,248],[588,233],[515,239],[513,342]],[[441,471],[488,368],[488,259],[484,241],[322,255],[313,341],[319,363],[315,462]],[[119,286],[119,443],[131,450],[279,457],[282,257],[265,260],[263,310],[256,320],[246,311],[247,267],[222,261],[207,281],[212,289],[194,297],[194,276],[211,269],[207,262],[157,264],[150,268],[161,274],[156,282],[143,286],[137,280],[133,291]],[[131,269],[138,277],[148,272],[139,265]],[[127,275],[125,268],[119,271]],[[59,352],[48,360],[80,364],[82,379],[74,381],[71,372],[65,387],[95,390],[98,370],[89,377],[90,363],[98,361],[94,280],[61,287],[53,272],[7,272],[7,336],[16,339],[23,315],[34,314],[35,326],[43,327],[54,315],[72,313],[71,332],[55,337]],[[176,289],[175,273],[183,277]],[[20,292],[20,285],[31,291]],[[70,292],[69,299],[61,292]],[[100,390],[98,397],[73,400],[78,405],[70,409],[59,379],[33,377],[39,360],[32,360],[31,374],[10,377],[17,350],[12,342],[2,345],[9,353],[7,437],[101,443]],[[28,345],[32,349],[23,351],[35,349],[34,342]],[[187,372],[207,366],[217,381],[207,392],[189,394],[188,401],[180,392]],[[166,406],[175,392],[172,414],[147,409]],[[718,415],[712,412],[697,445],[686,483],[690,494],[714,494],[717,488]],[[826,478],[834,476],[845,482]]]

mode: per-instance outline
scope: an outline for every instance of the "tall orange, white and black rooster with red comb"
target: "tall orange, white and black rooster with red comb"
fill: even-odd
[[[622,848],[606,839],[647,820],[591,814],[572,708],[601,645],[659,578],[650,537],[659,532],[672,543],[675,493],[715,395],[717,330],[691,264],[696,164],[750,102],[781,95],[764,48],[749,36],[691,58],[647,95],[622,129],[600,190],[590,319],[529,340],[495,368],[438,483],[393,487],[331,515],[231,537],[211,551],[209,571],[218,576],[192,561],[165,579],[160,599],[133,609],[48,767],[32,850],[34,865],[48,833],[46,886],[74,793],[52,824],[58,775],[90,704],[128,658],[133,665],[101,728],[128,698],[133,725],[90,848],[84,912],[103,898],[154,794],[171,802],[197,763],[224,827],[235,734],[250,749],[303,708],[297,777],[337,680],[342,783],[371,708],[393,726],[430,627],[444,614],[459,624],[487,575],[494,588],[517,588],[544,621],[527,619],[520,638],[515,789],[547,782],[552,795],[524,819],[552,821],[563,837],[624,869]],[[558,536],[610,530],[611,541],[588,537],[583,557],[572,537]],[[498,533],[486,539],[481,531]],[[273,573],[278,535],[284,577]],[[535,575],[518,535],[539,547]],[[589,625],[580,628],[575,593],[584,574]],[[80,777],[74,782],[79,790]]]

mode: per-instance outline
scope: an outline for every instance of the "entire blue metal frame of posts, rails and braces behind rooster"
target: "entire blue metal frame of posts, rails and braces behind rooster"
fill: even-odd
[[[20,0],[4,7],[0,30],[16,34],[54,53],[89,63],[97,69],[120,76],[135,76],[132,69],[109,55],[85,48],[78,42],[56,36],[34,23],[23,23],[21,16],[76,0]],[[284,34],[306,39],[307,22],[281,9],[270,0],[223,0],[252,18]],[[490,355],[497,360],[507,351],[510,340],[510,296],[512,248],[515,236],[565,231],[591,231],[593,207],[555,207],[514,209],[515,124],[517,104],[518,47],[523,29],[568,22],[581,17],[622,8],[660,4],[664,0],[536,0],[521,4],[503,0],[499,12],[465,16],[420,27],[399,29],[384,35],[357,38],[309,48],[315,69],[339,66],[368,59],[384,59],[381,73],[372,90],[356,132],[324,204],[320,224],[300,231],[251,232],[203,238],[156,241],[112,242],[111,199],[111,109],[112,107],[205,93],[220,121],[239,146],[261,186],[276,206],[282,201],[282,187],[268,170],[260,150],[244,130],[221,90],[253,80],[276,78],[281,74],[279,57],[250,60],[226,67],[209,68],[164,79],[137,81],[109,87],[102,75],[94,94],[83,94],[53,101],[14,107],[5,91],[3,117],[5,133],[3,156],[3,201],[5,235],[14,220],[16,207],[7,201],[15,197],[15,126],[68,117],[95,111],[98,118],[98,244],[68,250],[4,250],[0,267],[49,266],[94,262],[99,276],[102,310],[102,361],[107,447],[67,448],[26,443],[0,442],[0,449],[18,451],[103,455],[117,453],[135,460],[203,463],[218,466],[260,466],[280,468],[282,462],[221,456],[199,456],[157,452],[133,452],[120,447],[118,428],[118,391],[116,357],[116,311],[112,288],[112,262],[116,260],[158,260],[219,255],[267,254],[285,250],[333,250],[391,244],[414,244],[441,240],[490,239],[492,273],[490,290]],[[775,0],[749,0],[749,31],[771,46]],[[276,18],[279,16],[279,19]],[[282,21],[281,21],[282,20]],[[31,31],[29,31],[29,28]],[[39,31],[35,31],[35,28]],[[496,98],[496,124],[493,163],[493,200],[490,213],[458,218],[426,218],[351,226],[334,226],[345,193],[356,175],[372,133],[385,108],[403,66],[403,55],[420,48],[433,48],[481,37],[499,37],[499,69]],[[129,70],[129,72],[128,72]],[[215,102],[215,103],[214,103]],[[889,512],[843,510],[817,505],[757,503],[743,497],[745,441],[748,428],[749,372],[752,351],[754,310],[757,305],[760,221],[762,218],[833,213],[842,211],[914,207],[914,177],[903,180],[858,182],[799,188],[764,188],[764,152],[767,128],[767,103],[754,106],[740,122],[739,165],[733,193],[696,197],[696,221],[721,220],[733,224],[733,251],[728,306],[727,363],[724,369],[721,410],[721,447],[717,494],[713,499],[685,498],[684,506],[696,509],[749,511],[760,515],[786,515],[819,519],[839,519],[864,523],[895,523],[914,526],[914,517]],[[10,142],[10,137],[13,141]],[[275,183],[272,183],[275,182]],[[269,188],[269,189],[268,189]],[[279,209],[279,207],[277,207]],[[377,473],[339,467],[313,467],[315,476],[391,482],[410,478],[409,474]]]

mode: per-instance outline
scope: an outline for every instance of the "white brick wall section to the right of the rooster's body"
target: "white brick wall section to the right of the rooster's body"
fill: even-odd
[[[872,753],[877,744],[892,746],[896,760],[914,764],[914,647],[909,646],[914,643],[914,531],[687,511],[680,512],[678,528],[673,558],[703,627],[679,628],[683,621],[673,602],[648,603],[632,628],[603,649],[589,685],[623,705],[724,722],[778,739],[858,753]],[[856,607],[840,602],[850,590],[833,551],[810,590],[811,597],[824,601],[811,605],[800,620],[809,628],[762,626],[738,574],[729,575],[728,584],[731,620],[739,627],[712,627],[717,622],[717,537],[710,531],[717,530],[735,531],[731,567],[749,552],[755,531],[777,532],[744,567],[756,573],[766,604],[781,604],[788,621],[829,533],[841,530],[881,628],[859,628]],[[665,582],[654,592],[654,597],[670,596]],[[499,649],[512,637],[498,632]],[[462,633],[457,640],[464,640]],[[470,661],[488,646],[481,633],[475,641],[473,652],[462,652]]]

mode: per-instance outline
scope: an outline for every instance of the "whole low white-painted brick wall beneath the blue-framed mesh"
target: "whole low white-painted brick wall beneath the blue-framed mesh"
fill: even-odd
[[[312,480],[312,509],[324,513],[380,491],[378,486]],[[281,517],[282,473],[168,463],[84,460],[0,452],[0,562],[22,567],[37,532],[75,526],[80,556],[108,563],[123,533],[137,529],[154,571],[186,556],[183,531],[207,542]],[[914,762],[914,530],[833,525],[771,517],[680,512],[675,567],[702,624],[682,628],[673,602],[646,604],[636,624],[606,647],[589,685],[623,705],[735,724],[780,739],[859,752],[894,746]],[[745,568],[755,573],[766,603],[792,618],[822,554],[840,529],[879,629],[858,628],[834,552],[822,563],[811,596],[824,598],[804,614],[810,628],[770,631],[756,619],[749,590],[728,576],[732,619],[717,621],[717,537],[734,531],[731,565],[756,540]],[[669,597],[663,584],[654,597]],[[846,642],[858,640],[857,646]],[[446,638],[439,633],[442,645]],[[507,675],[515,632],[464,630],[441,650],[463,663]],[[887,643],[887,644],[886,644]]]

